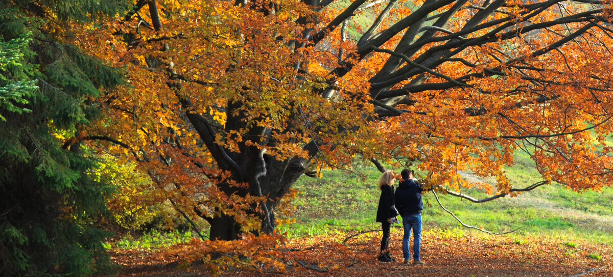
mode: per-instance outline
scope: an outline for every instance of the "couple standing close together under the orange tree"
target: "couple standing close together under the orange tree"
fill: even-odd
[[[378,259],[381,262],[395,261],[390,256],[387,245],[389,244],[390,226],[397,222],[397,210],[402,216],[402,226],[405,231],[402,238],[402,254],[405,258],[405,264],[409,264],[411,260],[409,238],[411,229],[413,229],[413,264],[424,265],[425,263],[419,259],[419,247],[422,229],[421,211],[423,208],[421,194],[425,189],[422,188],[422,184],[413,180],[413,170],[403,169],[400,175],[402,175],[402,180],[400,180],[400,185],[398,185],[395,193],[392,185],[394,185],[396,176],[393,171],[383,172],[381,179],[379,179],[381,196],[379,197],[376,221],[380,222],[383,227],[383,238],[381,238],[381,253],[379,253]],[[396,210],[392,206],[395,206]]]

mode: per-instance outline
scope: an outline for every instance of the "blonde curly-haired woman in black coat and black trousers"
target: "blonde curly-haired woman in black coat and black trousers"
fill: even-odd
[[[392,262],[394,258],[390,257],[387,245],[389,245],[389,229],[392,221],[395,219],[395,215],[392,215],[392,205],[394,205],[394,187],[392,184],[396,179],[394,171],[388,170],[383,172],[381,179],[379,179],[379,190],[381,190],[381,196],[379,196],[379,207],[377,208],[376,221],[381,223],[383,229],[383,237],[381,238],[381,252],[379,253],[379,261]]]

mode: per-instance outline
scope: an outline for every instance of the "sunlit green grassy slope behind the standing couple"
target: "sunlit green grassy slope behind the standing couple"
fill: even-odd
[[[538,172],[530,169],[531,161],[528,157],[516,155],[516,161],[516,166],[508,172],[519,186],[538,182]],[[322,179],[300,179],[294,185],[300,193],[292,200],[296,209],[293,215],[296,222],[281,226],[280,229],[290,236],[302,236],[380,227],[375,223],[375,212],[379,199],[376,183],[381,173],[374,167],[360,168],[359,171],[328,171]],[[466,172],[462,174],[474,177]],[[468,189],[462,190],[462,193],[474,197],[485,196]],[[565,240],[613,244],[613,189],[610,187],[600,192],[579,194],[561,185],[550,185],[516,198],[507,197],[483,204],[438,195],[441,203],[465,224],[483,226],[492,232],[519,228],[509,235],[546,235]],[[423,216],[424,229],[478,232],[462,227],[441,209],[433,193],[424,195]]]

